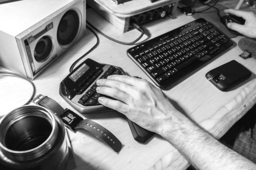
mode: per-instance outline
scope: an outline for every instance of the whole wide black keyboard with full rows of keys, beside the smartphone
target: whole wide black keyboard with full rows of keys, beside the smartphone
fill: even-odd
[[[233,42],[200,18],[127,50],[128,56],[165,88],[216,57]]]

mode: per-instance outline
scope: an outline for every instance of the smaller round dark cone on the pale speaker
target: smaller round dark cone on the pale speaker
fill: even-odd
[[[34,48],[34,59],[41,63],[44,62],[50,55],[53,48],[53,43],[50,37],[43,36],[36,43]]]

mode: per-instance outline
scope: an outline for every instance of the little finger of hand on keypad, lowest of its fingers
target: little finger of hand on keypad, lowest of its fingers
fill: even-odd
[[[98,102],[103,106],[109,107],[123,114],[127,113],[129,110],[129,106],[122,101],[113,100],[106,97],[98,97]]]

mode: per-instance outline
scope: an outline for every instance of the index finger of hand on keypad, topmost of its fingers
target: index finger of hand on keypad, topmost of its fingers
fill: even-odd
[[[136,86],[142,80],[141,78],[131,77],[129,75],[109,75],[107,79],[118,80],[130,86]]]

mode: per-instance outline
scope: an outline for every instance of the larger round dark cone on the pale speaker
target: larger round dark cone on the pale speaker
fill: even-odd
[[[70,44],[79,29],[79,17],[74,10],[67,11],[62,17],[57,30],[57,40],[60,45]]]

